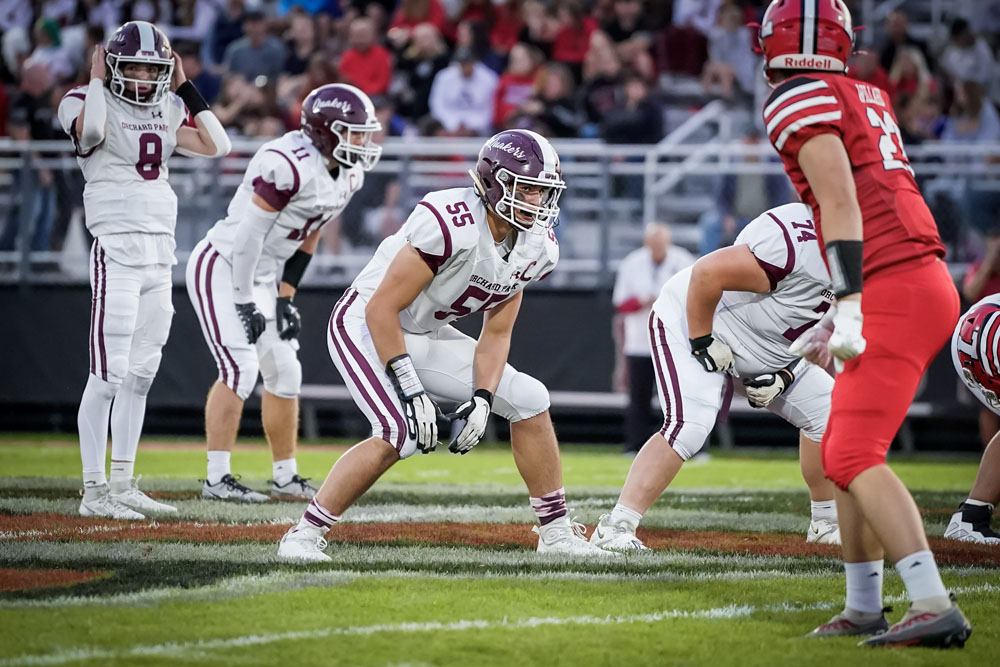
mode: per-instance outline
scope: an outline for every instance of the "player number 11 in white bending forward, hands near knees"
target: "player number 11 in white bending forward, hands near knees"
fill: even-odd
[[[323,225],[344,210],[378,161],[382,148],[373,134],[380,129],[371,100],[354,86],[312,91],[302,105],[301,129],[257,150],[226,217],[191,253],[188,296],[219,369],[205,404],[203,498],[268,500],[240,484],[229,461],[258,372],[273,459],[271,495],[316,494],[295,461],[302,368],[301,320],[292,300]]]

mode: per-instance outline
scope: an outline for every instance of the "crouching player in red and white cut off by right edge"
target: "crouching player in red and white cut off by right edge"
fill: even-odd
[[[983,405],[1000,414],[1000,294],[991,294],[969,309],[951,337],[955,370]],[[990,528],[1000,502],[1000,433],[993,436],[972,483],[969,497],[958,506],[944,536],[963,542],[1000,546],[1000,533]]]

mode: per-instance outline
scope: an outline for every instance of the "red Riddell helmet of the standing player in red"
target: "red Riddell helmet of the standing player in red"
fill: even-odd
[[[768,81],[775,69],[843,73],[854,49],[851,12],[843,0],[772,0],[758,41]]]

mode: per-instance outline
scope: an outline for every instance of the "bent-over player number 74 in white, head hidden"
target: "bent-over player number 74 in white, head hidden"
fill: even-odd
[[[767,211],[732,246],[667,281],[649,318],[663,428],[639,451],[618,504],[601,517],[591,544],[646,548],[636,527],[708,438],[732,382],[727,373],[743,378],[734,389],[752,406],[800,429],[802,475],[812,498],[806,540],[840,543],[834,489],[823,477],[819,449],[833,378],[788,349],[832,300],[812,213],[802,204]]]

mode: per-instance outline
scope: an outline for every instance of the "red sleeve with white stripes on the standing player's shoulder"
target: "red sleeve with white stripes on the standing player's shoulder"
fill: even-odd
[[[823,79],[796,76],[771,93],[764,105],[767,137],[779,154],[796,157],[819,134],[843,137],[843,108],[833,86]]]

